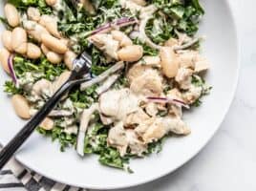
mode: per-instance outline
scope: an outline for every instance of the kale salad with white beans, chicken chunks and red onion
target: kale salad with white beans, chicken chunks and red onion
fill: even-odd
[[[18,117],[40,110],[77,55],[92,56],[96,83],[72,89],[37,128],[61,151],[131,172],[129,159],[191,133],[182,112],[210,91],[198,0],[9,0],[4,11],[0,62]]]

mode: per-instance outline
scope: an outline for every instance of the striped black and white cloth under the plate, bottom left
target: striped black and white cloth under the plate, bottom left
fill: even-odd
[[[88,191],[40,176],[11,159],[0,171],[0,191]]]

